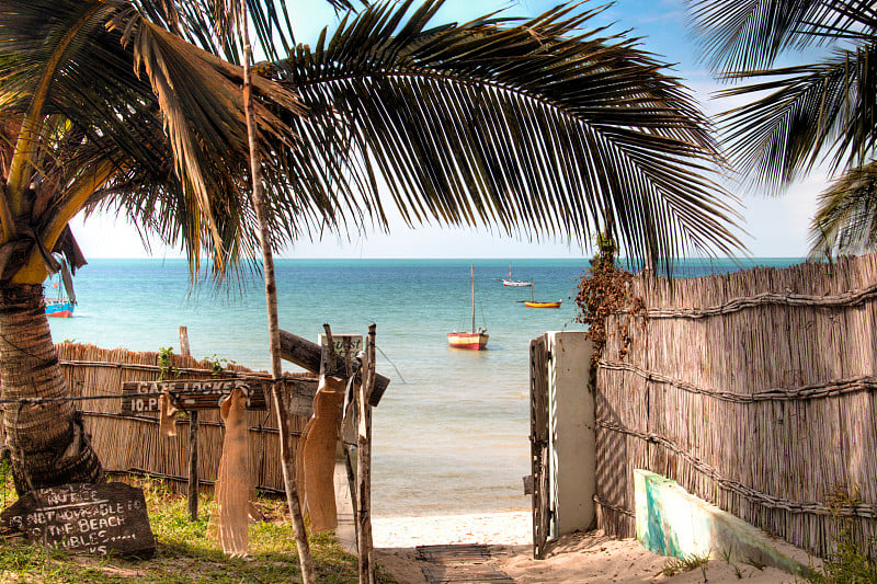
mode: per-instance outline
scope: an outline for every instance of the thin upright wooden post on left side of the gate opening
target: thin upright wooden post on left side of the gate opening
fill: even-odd
[[[363,364],[363,382],[356,388],[356,547],[360,551],[360,583],[374,584],[372,562],[372,406],[368,394],[375,382],[375,324],[368,327]]]

